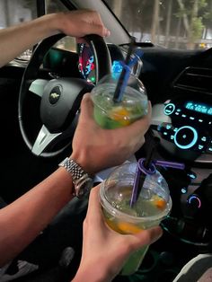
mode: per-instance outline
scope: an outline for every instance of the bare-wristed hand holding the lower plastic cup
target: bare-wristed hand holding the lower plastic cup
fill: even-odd
[[[111,281],[133,251],[155,242],[162,235],[159,226],[138,234],[118,234],[111,230],[102,216],[99,189],[100,185],[91,190],[84,220],[82,259],[74,281],[83,281],[83,276],[88,282]]]

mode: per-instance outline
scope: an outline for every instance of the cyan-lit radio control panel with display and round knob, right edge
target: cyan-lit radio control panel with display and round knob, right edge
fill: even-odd
[[[153,108],[152,124],[172,154],[181,152],[185,160],[212,162],[212,103],[184,97],[165,101]],[[204,161],[199,159],[203,154]]]

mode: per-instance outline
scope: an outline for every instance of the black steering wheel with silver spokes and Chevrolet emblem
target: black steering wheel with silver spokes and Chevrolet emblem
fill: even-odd
[[[83,78],[38,78],[40,65],[49,48],[65,36],[57,34],[41,41],[22,76],[18,101],[22,137],[32,154],[43,157],[56,156],[71,144],[80,102],[84,93],[90,92],[94,86]],[[91,34],[84,39],[93,52],[98,82],[103,75],[110,74],[110,52],[102,37]],[[31,95],[36,96],[32,104]],[[35,110],[36,104],[36,108],[40,107],[40,114]]]

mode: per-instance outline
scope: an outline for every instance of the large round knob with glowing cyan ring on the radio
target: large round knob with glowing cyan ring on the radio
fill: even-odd
[[[198,141],[198,132],[189,126],[181,127],[175,133],[173,141],[182,150],[190,149]]]

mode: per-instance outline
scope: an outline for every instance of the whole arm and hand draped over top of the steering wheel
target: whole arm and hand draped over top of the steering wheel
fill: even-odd
[[[90,33],[103,37],[110,34],[100,15],[93,11],[47,14],[0,31],[0,66],[4,66],[40,40],[59,32],[79,38]]]

